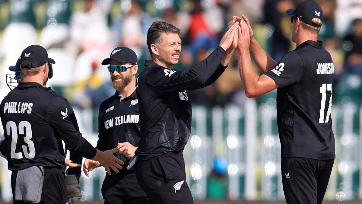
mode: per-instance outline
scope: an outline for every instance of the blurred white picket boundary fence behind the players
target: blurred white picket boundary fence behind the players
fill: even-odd
[[[193,108],[193,129],[184,158],[187,182],[195,200],[205,200],[207,175],[212,160],[228,160],[229,193],[235,200],[283,200],[280,171],[280,142],[276,125],[275,101],[257,106],[247,100],[243,107]],[[97,111],[75,110],[81,132],[94,146]],[[362,198],[362,108],[352,103],[334,105],[333,131],[336,160],[325,200]],[[0,159],[1,200],[11,201],[7,162]],[[86,178],[82,174],[82,200],[101,199],[104,168]]]

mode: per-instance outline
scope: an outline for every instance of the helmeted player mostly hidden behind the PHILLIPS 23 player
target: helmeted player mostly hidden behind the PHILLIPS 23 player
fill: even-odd
[[[21,72],[20,64],[21,64],[21,56],[18,58],[15,66],[9,67],[9,70],[14,71],[15,74],[6,74],[7,85],[10,88],[10,90],[17,87],[18,83],[20,81],[22,81],[22,77],[20,74],[20,72]],[[51,79],[53,77],[52,64],[50,62],[48,62],[48,65],[49,65],[48,79]],[[46,82],[47,82],[47,80],[46,80]],[[45,82],[45,84],[43,84],[43,87],[45,88],[45,90],[49,93],[52,93],[56,96],[61,97],[64,100],[64,102],[70,107],[68,117],[70,118],[74,128],[80,133],[77,118],[75,117],[73,108],[69,104],[68,100],[65,99],[63,96],[59,95],[57,92],[53,91],[51,89],[51,87],[47,87],[46,82]],[[1,152],[0,152],[0,155],[1,155]],[[69,159],[70,160],[65,158],[65,163],[66,163],[66,166],[70,167],[66,171],[66,185],[67,185],[68,203],[71,204],[71,203],[75,203],[76,201],[79,201],[82,198],[79,178],[81,175],[81,167],[80,167],[81,165],[80,164],[82,163],[83,158],[81,156],[79,156],[78,154],[74,153],[73,151],[71,151],[70,155],[69,155]],[[65,168],[64,168],[64,170],[65,170]]]

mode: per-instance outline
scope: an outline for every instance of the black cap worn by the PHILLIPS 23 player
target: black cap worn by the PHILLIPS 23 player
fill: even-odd
[[[49,58],[46,49],[40,45],[26,47],[21,53],[21,61],[25,59],[29,60],[31,64],[24,68],[40,67],[47,62],[55,64],[54,59]]]

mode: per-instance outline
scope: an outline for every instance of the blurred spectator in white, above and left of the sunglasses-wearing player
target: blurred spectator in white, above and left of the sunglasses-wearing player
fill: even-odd
[[[84,10],[72,14],[70,36],[79,52],[108,49],[111,39],[108,14],[112,5],[113,0],[85,0]]]

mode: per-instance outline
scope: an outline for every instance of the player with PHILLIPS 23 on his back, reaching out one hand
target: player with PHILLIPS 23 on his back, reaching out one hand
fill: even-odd
[[[105,152],[81,137],[69,119],[62,98],[42,86],[49,75],[46,50],[39,45],[21,54],[23,81],[4,98],[0,117],[5,130],[1,153],[12,171],[13,203],[67,203],[62,140],[70,151],[100,161],[118,172],[123,162],[114,157],[119,147]]]

